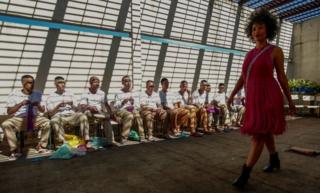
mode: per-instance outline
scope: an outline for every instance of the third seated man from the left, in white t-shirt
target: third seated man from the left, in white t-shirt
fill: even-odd
[[[80,98],[80,109],[89,122],[99,121],[103,125],[107,143],[112,145],[114,137],[110,117],[113,115],[105,93],[99,89],[100,80],[96,76],[89,79],[90,87]]]

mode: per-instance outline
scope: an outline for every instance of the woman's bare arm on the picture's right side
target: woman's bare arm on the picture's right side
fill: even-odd
[[[283,57],[282,49],[279,47],[276,47],[273,50],[272,54],[273,54],[273,62],[274,62],[274,65],[275,65],[275,68],[277,71],[278,81],[280,83],[280,86],[282,88],[284,95],[288,99],[290,112],[294,113],[295,107],[294,107],[294,104],[291,99],[291,94],[290,94],[289,85],[288,85],[288,79],[287,79],[287,76],[284,72],[284,57]]]

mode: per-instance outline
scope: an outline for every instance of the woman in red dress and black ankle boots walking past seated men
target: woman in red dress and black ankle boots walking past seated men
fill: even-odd
[[[252,167],[258,161],[264,145],[270,153],[270,163],[265,172],[280,169],[280,160],[276,152],[274,135],[282,134],[286,129],[283,94],[287,97],[290,113],[295,112],[284,72],[284,57],[281,48],[271,45],[278,30],[277,20],[267,10],[254,11],[247,24],[247,36],[256,44],[245,57],[241,76],[227,102],[244,87],[246,92],[246,113],[241,127],[242,134],[252,137],[251,147],[242,173],[233,185],[244,187]],[[274,69],[277,79],[274,78]],[[281,89],[280,89],[280,86]]]

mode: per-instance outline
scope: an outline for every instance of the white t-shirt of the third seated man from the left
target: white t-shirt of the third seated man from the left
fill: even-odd
[[[102,90],[92,93],[89,89],[80,98],[80,105],[89,105],[97,108],[101,112],[102,106],[107,102],[107,97]]]

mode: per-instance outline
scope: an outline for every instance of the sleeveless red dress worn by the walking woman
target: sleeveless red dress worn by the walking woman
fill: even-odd
[[[243,134],[279,135],[286,129],[283,94],[273,75],[274,64],[271,53],[274,47],[270,45],[255,60],[248,78],[249,63],[262,49],[252,49],[244,60],[242,73],[246,89],[246,112],[240,130]]]

